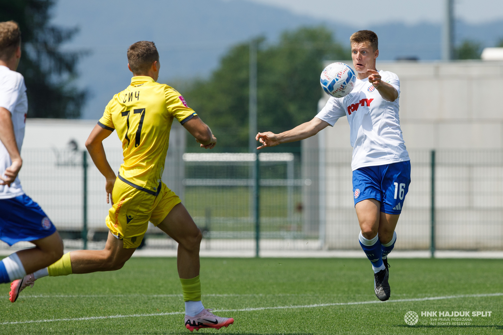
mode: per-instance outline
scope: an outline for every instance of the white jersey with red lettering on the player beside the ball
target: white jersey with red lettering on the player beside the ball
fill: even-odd
[[[400,96],[400,80],[393,72],[379,71],[382,81],[392,85]],[[355,88],[344,98],[328,99],[316,115],[333,127],[348,117],[353,147],[351,168],[384,165],[410,160],[400,129],[398,99],[384,100],[368,78],[356,79]]]

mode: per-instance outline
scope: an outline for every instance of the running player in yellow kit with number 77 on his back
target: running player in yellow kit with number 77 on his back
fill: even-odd
[[[185,326],[191,331],[226,327],[234,319],[212,314],[201,302],[201,231],[180,198],[161,181],[175,118],[201,147],[211,149],[217,140],[175,89],[156,82],[159,54],[153,42],[132,44],[127,56],[128,67],[133,72],[131,85],[110,100],[86,141],[94,163],[106,178],[107,203],[109,199],[112,202],[106,217],[110,229],[107,244],[103,250],[77,250],[63,255],[46,268],[46,275],[121,269],[140,245],[150,221],[179,243],[177,267],[185,301]],[[124,163],[117,176],[102,144],[114,130],[122,141],[124,154]],[[25,279],[27,284],[23,288],[33,286],[35,281],[33,274],[27,276],[31,278]],[[40,277],[38,274],[37,278]]]

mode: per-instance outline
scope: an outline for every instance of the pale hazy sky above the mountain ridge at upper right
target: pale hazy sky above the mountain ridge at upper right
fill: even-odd
[[[236,1],[236,0],[227,0]],[[242,0],[241,0],[242,1]],[[288,9],[296,14],[309,15],[329,21],[354,22],[358,12],[374,13],[372,24],[399,21],[414,24],[421,21],[441,22],[444,0],[246,0]],[[454,15],[469,23],[489,22],[503,18],[502,0],[454,0]],[[347,13],[352,13],[347,15]],[[365,15],[368,17],[367,15]]]

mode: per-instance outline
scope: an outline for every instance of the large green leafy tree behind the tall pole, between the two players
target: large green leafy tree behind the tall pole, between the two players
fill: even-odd
[[[256,41],[259,131],[285,131],[312,119],[321,97],[323,60],[351,59],[349,49],[324,27],[284,32],[273,45],[263,37]],[[209,79],[196,80],[182,92],[221,148],[248,146],[248,61],[249,43],[235,45]]]

